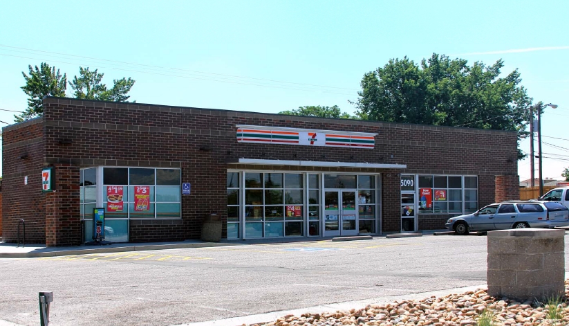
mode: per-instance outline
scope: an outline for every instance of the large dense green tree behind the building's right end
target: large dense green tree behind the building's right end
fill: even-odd
[[[512,130],[527,134],[532,98],[521,87],[519,71],[498,76],[502,60],[451,60],[433,55],[420,64],[392,59],[364,75],[356,115],[364,120]],[[519,158],[523,154],[519,151]]]

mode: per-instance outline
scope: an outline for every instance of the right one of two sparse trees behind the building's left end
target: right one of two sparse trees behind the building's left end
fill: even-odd
[[[130,96],[127,93],[131,90],[134,80],[129,78],[122,78],[120,80],[113,80],[114,85],[111,89],[107,89],[105,84],[102,84],[104,73],[99,73],[98,69],[90,71],[87,67],[79,67],[79,77],[75,76],[73,81],[69,82],[71,89],[75,91],[73,96],[84,100],[103,100],[114,102],[127,102]]]

